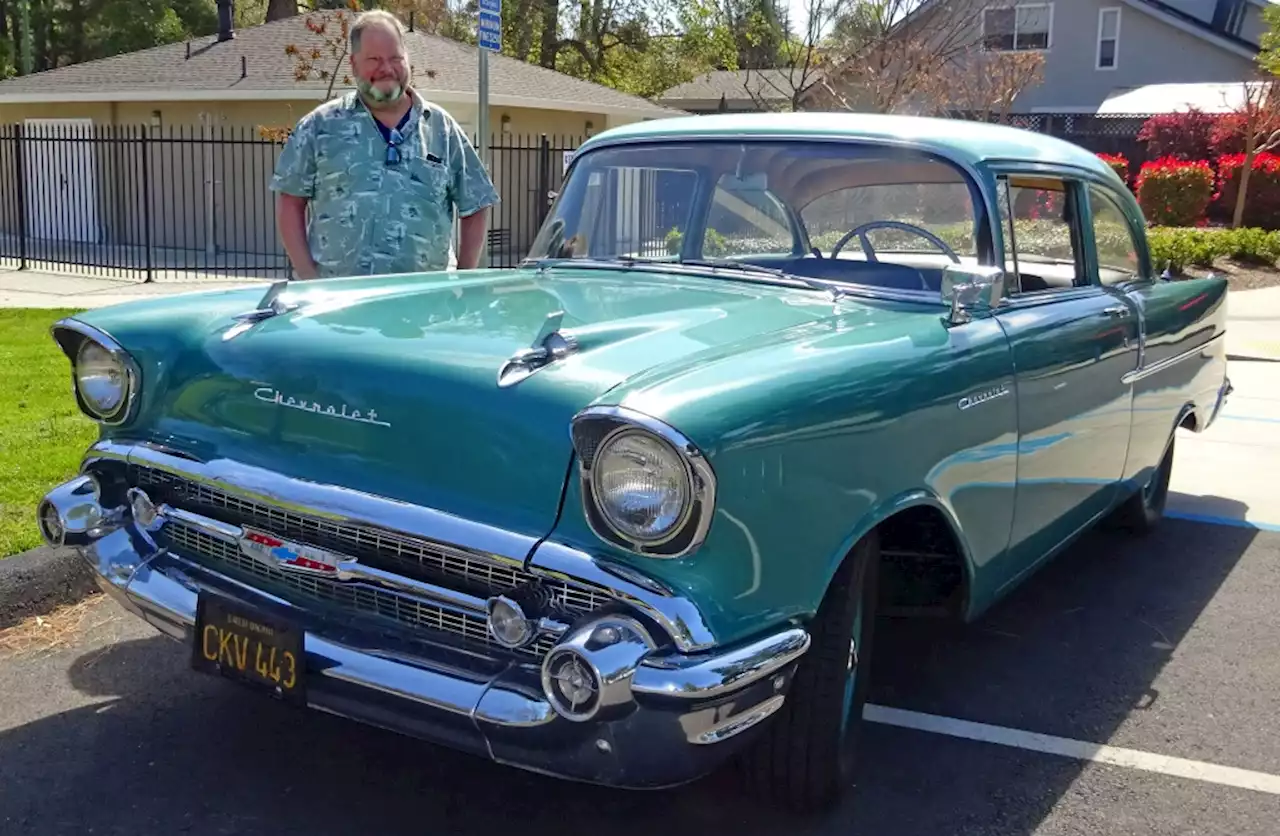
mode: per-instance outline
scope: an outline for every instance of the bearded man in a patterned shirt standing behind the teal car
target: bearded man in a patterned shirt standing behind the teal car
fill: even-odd
[[[480,261],[498,193],[458,123],[410,87],[404,28],[387,12],[351,27],[356,91],[298,120],[271,178],[300,279],[444,270]],[[307,225],[307,209],[311,223]]]

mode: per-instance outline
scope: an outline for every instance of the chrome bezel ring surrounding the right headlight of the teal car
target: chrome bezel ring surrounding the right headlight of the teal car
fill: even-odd
[[[595,421],[613,424],[599,437],[584,438],[585,428]],[[571,424],[573,448],[577,452],[579,486],[582,494],[582,512],[591,531],[602,540],[612,544],[625,545],[636,554],[645,557],[672,559],[685,557],[707,540],[707,534],[712,526],[716,513],[716,471],[703,452],[684,433],[673,426],[625,406],[593,406],[573,416]],[[600,510],[600,503],[595,498],[594,490],[594,461],[584,456],[584,446],[590,440],[593,449],[599,451],[604,444],[621,433],[646,431],[676,451],[685,463],[685,472],[690,483],[689,507],[682,512],[682,518],[668,534],[657,540],[637,540],[617,530]],[[594,456],[593,456],[594,458]],[[593,513],[593,508],[595,513]],[[596,520],[599,515],[599,521]],[[600,522],[607,526],[602,530]],[[692,530],[690,530],[692,526]],[[676,551],[663,547],[673,540],[689,535],[689,543]]]

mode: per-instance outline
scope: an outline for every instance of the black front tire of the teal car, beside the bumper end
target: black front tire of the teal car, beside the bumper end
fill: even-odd
[[[826,810],[851,784],[861,752],[878,570],[873,531],[832,579],[786,703],[744,759],[749,789],[792,812]]]

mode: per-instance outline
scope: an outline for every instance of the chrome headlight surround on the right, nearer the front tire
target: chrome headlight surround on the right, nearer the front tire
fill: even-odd
[[[644,435],[662,446],[680,462],[687,480],[687,501],[676,521],[653,538],[622,530],[599,499],[595,471],[599,452],[628,435]],[[582,512],[596,536],[645,557],[668,559],[685,557],[703,544],[716,512],[716,474],[689,438],[654,417],[620,406],[589,407],[579,412],[573,416],[571,437],[577,453]]]

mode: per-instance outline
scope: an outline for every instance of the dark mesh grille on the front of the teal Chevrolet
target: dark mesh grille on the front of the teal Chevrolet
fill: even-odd
[[[559,609],[568,616],[591,612],[612,600],[599,588],[538,579],[517,566],[492,562],[430,540],[285,511],[242,499],[163,470],[140,466],[131,470],[129,481],[145,489],[156,503],[168,503],[232,525],[261,529],[288,540],[358,558],[361,563],[375,568],[448,589],[489,597],[536,580],[552,593]],[[261,585],[287,600],[305,599],[353,613],[379,616],[413,630],[440,631],[468,645],[507,652],[489,636],[483,616],[442,607],[375,584],[280,571],[243,554],[232,543],[178,521],[166,524],[157,534],[157,540],[184,557]],[[544,636],[517,653],[540,658],[553,643],[554,639]]]

